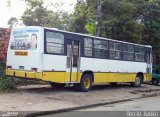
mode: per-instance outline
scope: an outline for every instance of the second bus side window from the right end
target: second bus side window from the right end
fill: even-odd
[[[123,45],[123,60],[133,61],[134,60],[134,46]]]

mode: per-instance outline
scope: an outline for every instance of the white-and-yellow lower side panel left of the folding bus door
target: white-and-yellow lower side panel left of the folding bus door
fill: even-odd
[[[66,56],[44,54],[42,80],[64,83],[66,77],[66,59]]]

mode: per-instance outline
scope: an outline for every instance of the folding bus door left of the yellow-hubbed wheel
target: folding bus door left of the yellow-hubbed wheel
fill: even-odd
[[[76,40],[67,40],[67,70],[66,81],[77,82],[80,60],[80,42]]]

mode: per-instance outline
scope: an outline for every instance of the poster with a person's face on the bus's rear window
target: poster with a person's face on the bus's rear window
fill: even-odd
[[[38,44],[38,29],[17,29],[12,32],[10,49],[36,50]]]

